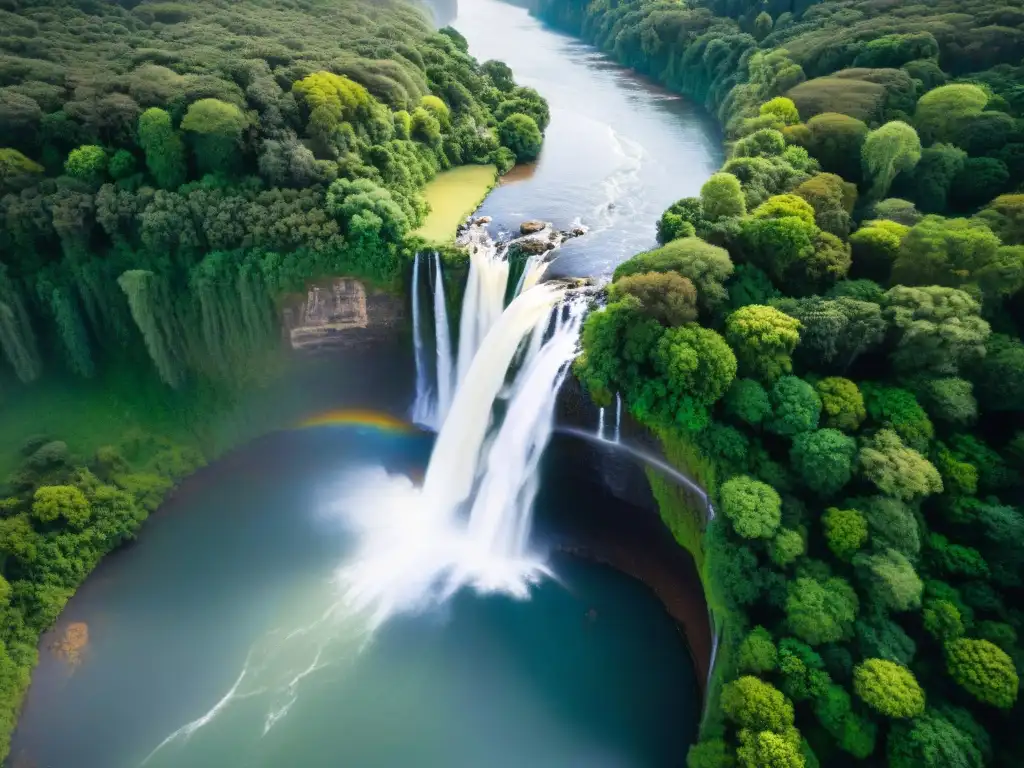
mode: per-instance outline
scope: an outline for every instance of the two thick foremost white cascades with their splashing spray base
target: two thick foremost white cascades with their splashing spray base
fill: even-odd
[[[348,501],[359,548],[339,580],[347,605],[366,612],[371,627],[466,586],[525,597],[547,572],[526,547],[534,483],[552,427],[553,403],[547,400],[575,355],[585,307],[574,302],[569,319],[561,319],[550,336],[538,329],[548,325],[564,295],[563,288],[540,285],[501,315],[456,391],[422,488],[383,471],[346,483],[365,498]],[[488,441],[492,411],[527,335],[530,346],[542,340],[519,369],[506,418]]]

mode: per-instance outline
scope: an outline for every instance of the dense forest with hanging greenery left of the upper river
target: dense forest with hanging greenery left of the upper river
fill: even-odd
[[[393,282],[439,170],[536,157],[547,104],[407,2],[0,6],[0,347],[217,373],[270,299]]]

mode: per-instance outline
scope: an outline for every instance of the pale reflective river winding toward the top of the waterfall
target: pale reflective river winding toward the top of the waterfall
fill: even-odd
[[[702,110],[523,8],[460,0],[454,26],[470,53],[505,61],[550,104],[536,168],[513,170],[480,213],[504,228],[529,218],[590,227],[562,248],[551,274],[606,274],[653,247],[665,209],[696,195],[722,165],[719,131]]]

